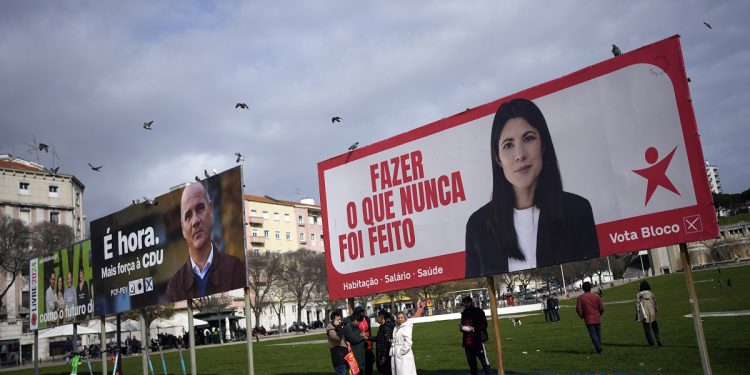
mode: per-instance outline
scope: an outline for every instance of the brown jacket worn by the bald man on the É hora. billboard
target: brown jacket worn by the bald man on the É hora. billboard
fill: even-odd
[[[206,293],[201,295],[197,276],[193,273],[190,257],[180,267],[167,283],[167,302],[183,301],[189,298],[208,296],[214,293],[226,292],[232,289],[244,288],[247,283],[245,278],[245,265],[231,255],[225,255],[213,249],[214,259],[208,270],[208,282]]]

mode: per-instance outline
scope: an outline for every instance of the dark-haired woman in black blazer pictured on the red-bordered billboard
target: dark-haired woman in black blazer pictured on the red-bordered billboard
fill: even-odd
[[[591,204],[565,192],[547,121],[532,101],[495,114],[492,198],[466,223],[466,277],[599,257]]]

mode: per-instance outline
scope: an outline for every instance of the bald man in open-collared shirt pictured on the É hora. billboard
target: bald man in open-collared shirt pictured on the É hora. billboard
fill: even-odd
[[[167,300],[176,302],[244,288],[245,265],[219,252],[211,242],[213,203],[203,184],[192,183],[182,191],[180,222],[189,257],[169,279]]]

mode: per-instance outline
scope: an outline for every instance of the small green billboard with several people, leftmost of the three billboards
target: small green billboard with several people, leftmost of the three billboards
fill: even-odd
[[[93,317],[91,241],[29,262],[29,328],[51,328]]]

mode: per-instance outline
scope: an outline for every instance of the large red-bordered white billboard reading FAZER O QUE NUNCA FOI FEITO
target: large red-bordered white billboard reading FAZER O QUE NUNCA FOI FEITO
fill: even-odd
[[[718,234],[678,36],[320,162],[318,176],[332,299]]]

